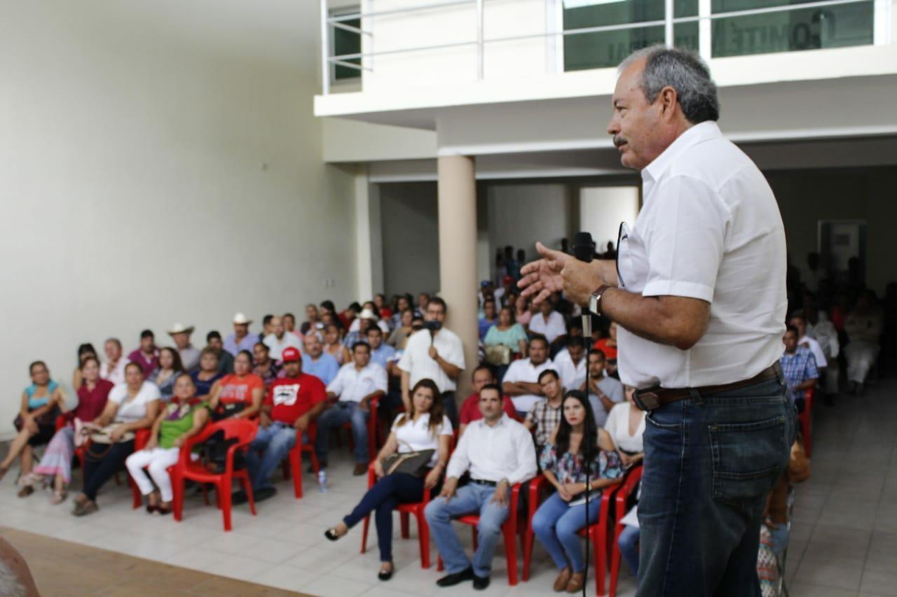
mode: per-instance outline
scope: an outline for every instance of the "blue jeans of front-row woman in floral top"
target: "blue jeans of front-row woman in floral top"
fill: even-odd
[[[590,499],[588,523],[597,522],[600,510],[601,499]],[[573,572],[586,569],[586,561],[582,557],[582,541],[577,534],[584,526],[586,505],[570,506],[556,493],[546,499],[533,516],[533,532],[559,570],[568,565]]]

